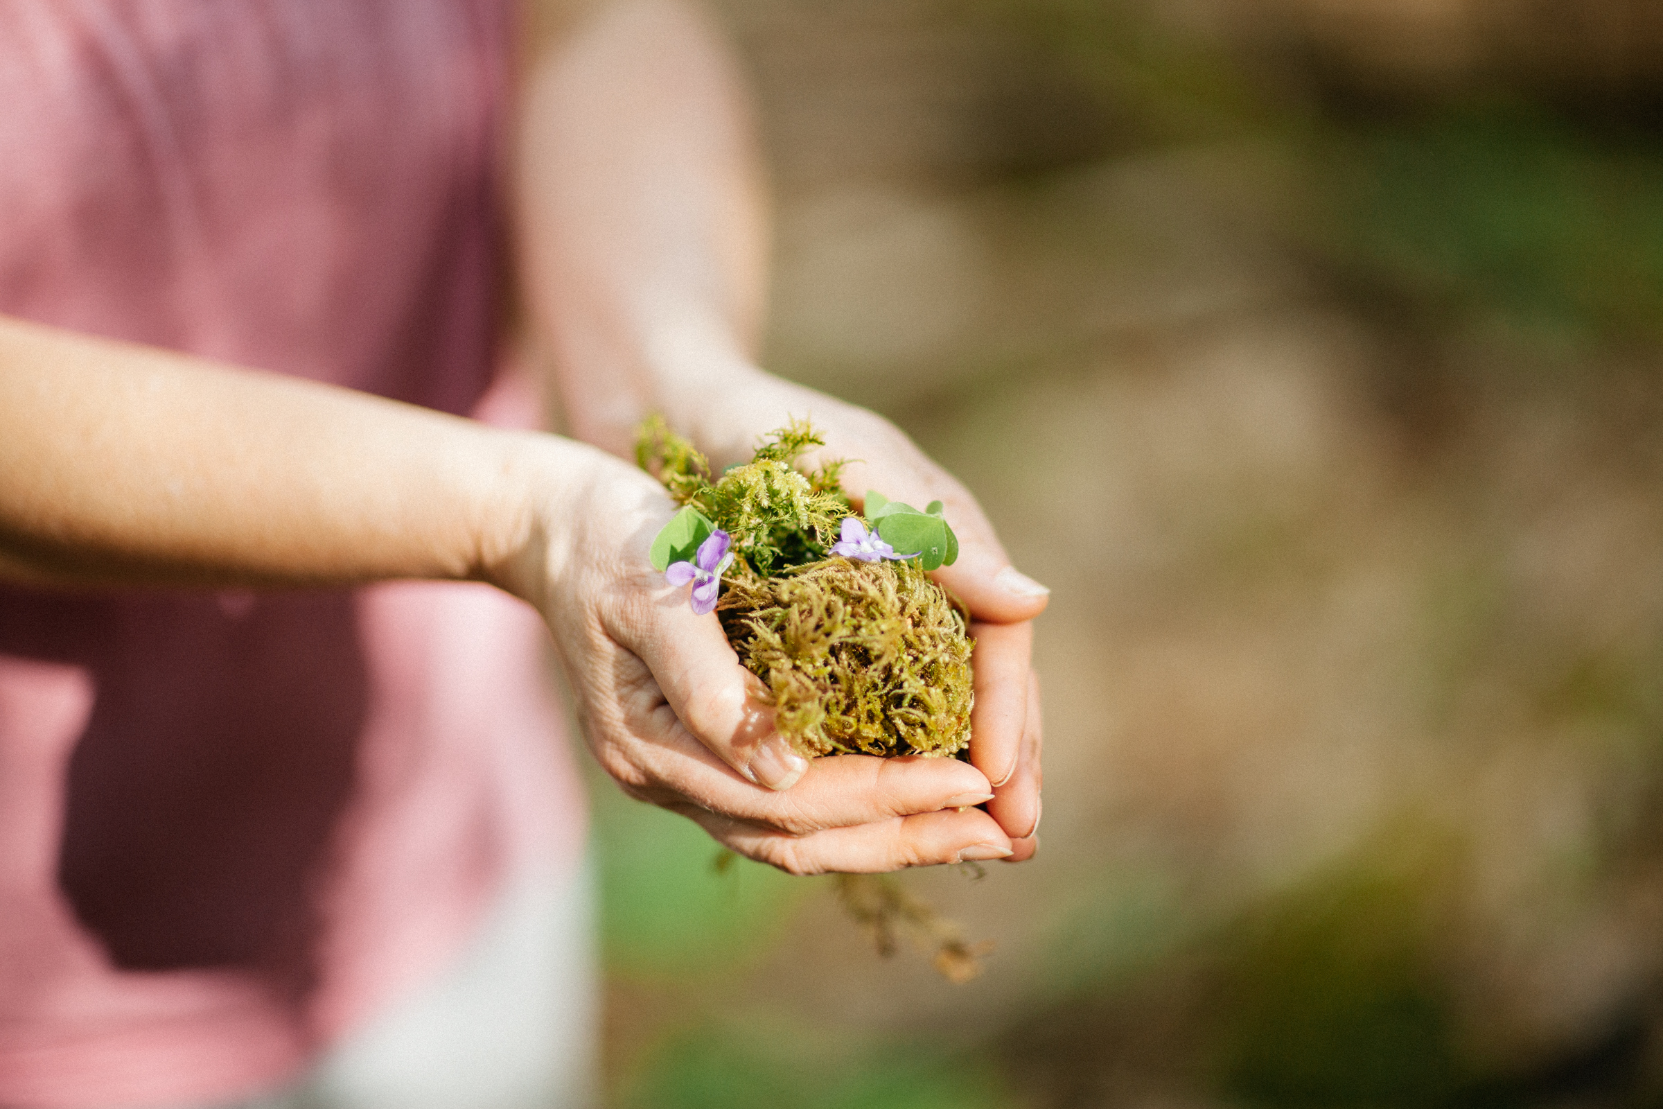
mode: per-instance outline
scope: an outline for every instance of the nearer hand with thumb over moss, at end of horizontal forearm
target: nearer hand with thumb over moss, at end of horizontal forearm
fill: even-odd
[[[970,808],[994,793],[978,766],[792,752],[717,617],[693,615],[687,590],[647,562],[674,500],[599,451],[529,444],[530,525],[502,584],[542,610],[589,747],[630,796],[797,875],[1019,850],[999,821]]]

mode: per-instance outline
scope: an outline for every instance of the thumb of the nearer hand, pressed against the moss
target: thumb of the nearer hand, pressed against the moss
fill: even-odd
[[[740,665],[713,615],[695,615],[685,590],[659,590],[635,605],[634,624],[614,630],[640,657],[677,720],[742,778],[788,790],[808,773],[808,760],[773,730],[762,683]]]

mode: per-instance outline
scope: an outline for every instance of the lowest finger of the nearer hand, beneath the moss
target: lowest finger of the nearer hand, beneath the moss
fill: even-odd
[[[717,813],[687,813],[723,846],[790,875],[876,875],[906,866],[1006,858],[1011,841],[986,813],[966,808],[896,816],[808,836],[767,831]]]

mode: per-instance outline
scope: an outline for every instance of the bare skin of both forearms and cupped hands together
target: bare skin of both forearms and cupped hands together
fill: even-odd
[[[0,319],[0,577],[489,582],[542,612],[600,765],[735,851],[792,873],[1026,858],[1044,594],[893,426],[755,367],[763,205],[715,40],[660,2],[524,25],[521,298],[589,442]],[[853,489],[946,502],[961,555],[936,577],[978,637],[971,763],[790,752],[717,619],[647,564],[675,505],[615,454],[649,411],[717,459],[812,416],[828,454],[861,459]]]

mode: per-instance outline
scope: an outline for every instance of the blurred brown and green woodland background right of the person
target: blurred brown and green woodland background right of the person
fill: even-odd
[[[1663,1104],[1663,5],[717,0],[765,362],[981,497],[986,973],[595,786],[615,1106]]]

